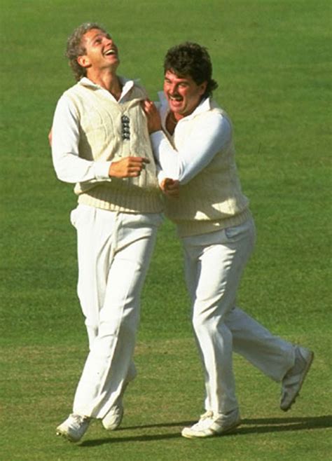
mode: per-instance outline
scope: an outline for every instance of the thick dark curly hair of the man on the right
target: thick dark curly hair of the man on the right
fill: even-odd
[[[177,76],[191,76],[200,85],[207,82],[203,97],[212,95],[218,83],[212,78],[212,62],[207,48],[198,43],[185,42],[170,48],[164,60],[164,72],[172,71]]]

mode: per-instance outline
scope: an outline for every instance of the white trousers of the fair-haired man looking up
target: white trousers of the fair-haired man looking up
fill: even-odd
[[[78,238],[78,298],[90,345],[74,413],[104,418],[134,378],[139,298],[161,222],[161,214],[86,205],[71,212]]]

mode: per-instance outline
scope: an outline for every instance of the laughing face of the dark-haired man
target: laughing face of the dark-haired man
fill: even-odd
[[[164,92],[170,109],[181,117],[192,113],[205,93],[207,82],[200,85],[193,81],[191,76],[177,76],[172,71],[166,71]]]

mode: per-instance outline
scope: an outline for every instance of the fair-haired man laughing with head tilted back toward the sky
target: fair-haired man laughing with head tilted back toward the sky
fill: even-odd
[[[139,297],[161,223],[162,202],[146,117],[146,92],[117,74],[118,48],[99,25],[69,37],[76,85],[60,97],[53,120],[57,177],[75,183],[71,223],[78,238],[78,297],[90,353],[73,412],[57,427],[79,441],[92,418],[116,429],[132,363]]]

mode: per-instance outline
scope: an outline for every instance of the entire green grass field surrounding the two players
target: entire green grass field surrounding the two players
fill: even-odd
[[[55,179],[47,134],[74,83],[65,41],[86,20],[110,30],[120,74],[140,77],[152,98],[167,48],[209,48],[258,228],[239,303],[316,354],[289,413],[279,411],[279,385],[235,357],[243,425],[203,441],[179,435],[202,411],[203,384],[181,248],[165,222],[123,425],[109,434],[95,422],[78,445],[55,437],[87,340],[69,225],[76,199]],[[329,0],[1,0],[1,460],[332,459],[331,20]]]

